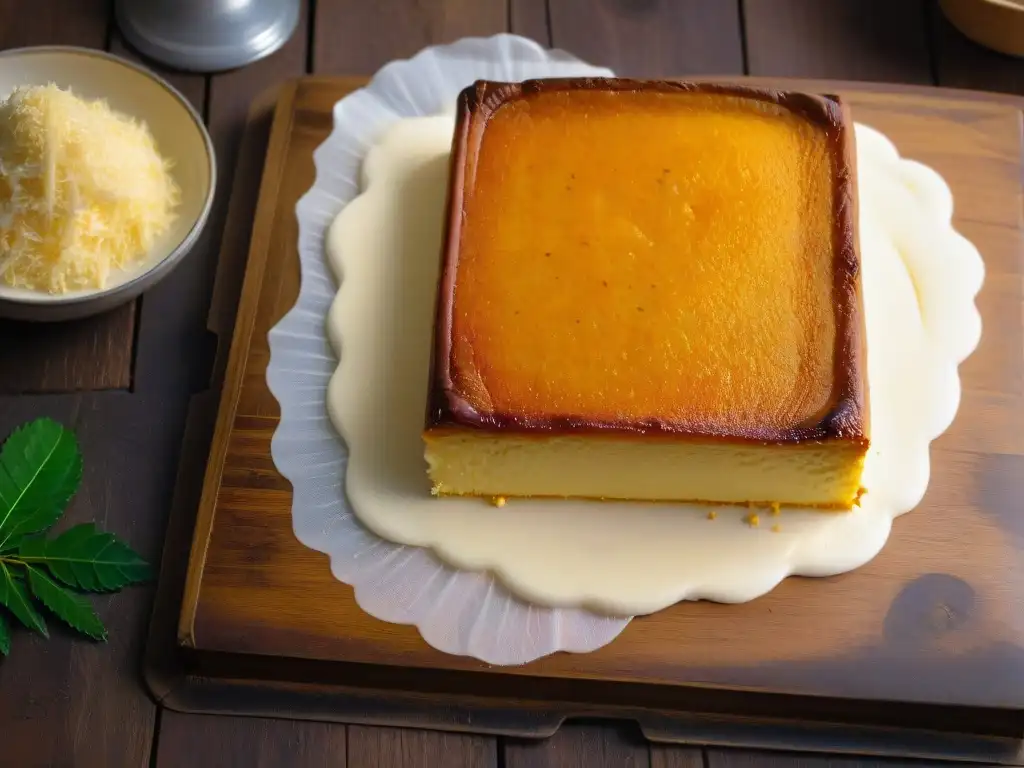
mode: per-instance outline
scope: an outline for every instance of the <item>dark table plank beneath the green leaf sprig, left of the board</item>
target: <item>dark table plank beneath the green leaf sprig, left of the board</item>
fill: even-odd
[[[0,437],[50,416],[74,429],[82,486],[61,524],[95,521],[151,562],[160,560],[182,403],[127,392],[0,398]],[[150,756],[156,707],[138,659],[152,586],[91,598],[110,631],[93,643],[51,621],[50,639],[15,630],[0,662],[0,763],[137,768]]]

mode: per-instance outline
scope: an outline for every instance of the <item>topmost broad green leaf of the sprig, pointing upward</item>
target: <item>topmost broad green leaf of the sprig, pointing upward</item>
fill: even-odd
[[[75,435],[52,419],[15,429],[0,451],[0,552],[50,527],[82,480]]]

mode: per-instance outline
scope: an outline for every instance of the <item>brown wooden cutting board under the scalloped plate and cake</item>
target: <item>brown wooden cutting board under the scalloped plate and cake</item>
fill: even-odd
[[[858,122],[952,187],[984,256],[984,335],[924,502],[859,570],[788,579],[742,605],[681,603],[606,647],[519,668],[442,654],[372,618],[292,534],[270,459],[267,332],[298,292],[298,198],[332,106],[362,81],[306,78],[274,113],[195,528],[172,708],[544,735],[629,717],[651,738],[1014,763],[1024,734],[1021,104],[1007,97],[776,82],[846,95]],[[762,81],[763,82],[763,81]],[[186,514],[180,513],[179,514]],[[173,587],[162,589],[172,590]],[[151,675],[154,677],[154,675]]]

